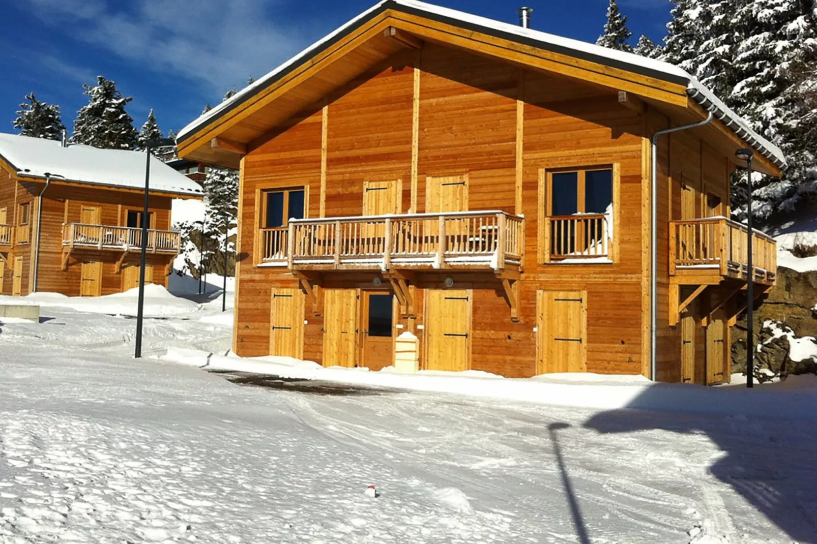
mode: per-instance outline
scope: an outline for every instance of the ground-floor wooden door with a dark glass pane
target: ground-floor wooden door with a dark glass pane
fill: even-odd
[[[395,363],[395,297],[391,292],[364,291],[361,297],[363,366],[374,371]]]

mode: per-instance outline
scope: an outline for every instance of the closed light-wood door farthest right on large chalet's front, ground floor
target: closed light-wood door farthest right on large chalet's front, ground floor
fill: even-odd
[[[537,373],[587,372],[587,291],[537,297]]]

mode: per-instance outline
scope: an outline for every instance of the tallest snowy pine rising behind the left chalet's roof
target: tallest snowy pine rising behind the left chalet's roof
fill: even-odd
[[[97,76],[96,80],[95,87],[83,85],[88,104],[78,111],[72,140],[102,149],[133,149],[136,129],[125,111],[133,98],[122,96],[109,79]]]

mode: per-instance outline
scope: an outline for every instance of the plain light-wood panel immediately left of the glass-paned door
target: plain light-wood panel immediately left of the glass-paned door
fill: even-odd
[[[324,290],[324,367],[357,365],[357,289]]]

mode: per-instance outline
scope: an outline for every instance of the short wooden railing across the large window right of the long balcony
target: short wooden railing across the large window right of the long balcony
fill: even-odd
[[[608,218],[603,213],[547,217],[547,261],[609,258]]]

